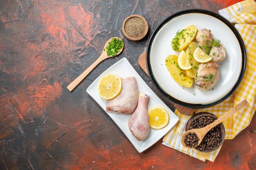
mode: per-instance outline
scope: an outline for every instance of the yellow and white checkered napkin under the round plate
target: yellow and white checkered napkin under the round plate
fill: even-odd
[[[235,24],[236,29],[243,38],[247,53],[245,75],[240,86],[231,97],[216,106],[197,109],[195,110],[195,113],[202,111],[211,112],[217,117],[220,117],[243,99],[247,99],[249,106],[223,122],[226,129],[225,139],[233,139],[250,124],[256,110],[256,2],[254,2],[254,0],[238,2],[231,7],[220,10],[219,13],[232,24]],[[175,110],[175,114],[180,120],[164,136],[163,144],[202,161],[205,161],[206,159],[214,161],[220,148],[213,152],[204,153],[195,149],[186,149],[182,146],[181,136],[185,132],[186,122],[191,116],[182,115],[177,110]]]

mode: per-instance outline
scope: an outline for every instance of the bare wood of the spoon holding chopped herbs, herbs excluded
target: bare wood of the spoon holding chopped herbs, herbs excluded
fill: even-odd
[[[121,39],[118,38],[118,37],[113,37],[113,38],[116,38],[116,39],[121,40]],[[112,41],[113,38],[110,38],[110,39],[106,42],[106,44],[105,44],[105,46],[104,46],[104,48],[103,48],[103,51],[102,51],[101,55],[99,56],[99,58],[98,58],[92,65],[90,65],[90,67],[88,67],[81,75],[79,75],[72,83],[70,83],[70,85],[67,86],[67,89],[68,89],[69,91],[72,91],[80,82],[82,82],[82,80],[83,80],[100,62],[102,62],[103,60],[105,60],[105,59],[107,59],[107,58],[115,57],[115,56],[119,55],[119,54],[123,51],[123,49],[124,49],[124,43],[123,43],[123,46],[122,46],[122,48],[120,49],[120,51],[119,51],[115,56],[112,56],[112,55],[108,56],[108,55],[107,55],[107,52],[106,52],[106,50],[104,51],[104,49],[106,49],[106,47],[108,46],[108,42]]]

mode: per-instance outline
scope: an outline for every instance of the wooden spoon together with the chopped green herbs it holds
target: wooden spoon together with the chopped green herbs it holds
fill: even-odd
[[[123,51],[123,49],[123,40],[118,37],[110,38],[106,42],[99,58],[92,65],[90,65],[90,67],[88,67],[81,75],[79,75],[72,83],[70,83],[70,85],[67,86],[67,89],[69,91],[72,91],[100,62],[107,58],[119,55]]]

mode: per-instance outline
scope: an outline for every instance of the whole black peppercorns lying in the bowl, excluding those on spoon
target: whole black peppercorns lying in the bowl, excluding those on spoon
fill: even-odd
[[[189,130],[203,128],[204,126],[211,124],[213,121],[216,121],[216,119],[209,116],[199,117],[198,119],[192,122],[191,126],[189,127]],[[211,130],[209,130],[209,132],[207,132],[207,134],[204,136],[200,145],[198,145],[196,148],[198,150],[211,150],[213,148],[216,148],[217,146],[220,146],[221,140],[222,139],[221,139],[220,126],[217,125]]]

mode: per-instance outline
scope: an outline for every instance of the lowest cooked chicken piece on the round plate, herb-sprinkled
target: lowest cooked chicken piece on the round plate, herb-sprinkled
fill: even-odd
[[[195,79],[195,85],[200,90],[208,90],[219,79],[220,72],[216,62],[201,63],[198,66],[197,77]]]

